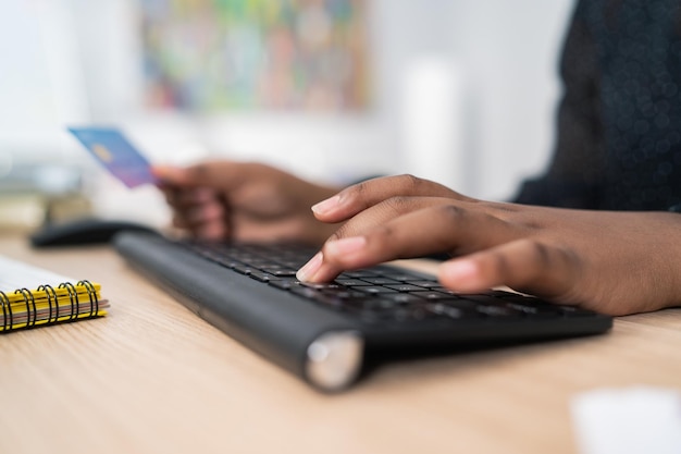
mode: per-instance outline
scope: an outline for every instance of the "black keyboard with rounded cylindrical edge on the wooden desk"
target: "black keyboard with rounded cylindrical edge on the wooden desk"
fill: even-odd
[[[381,265],[307,284],[299,245],[175,242],[138,232],[114,244],[197,315],[314,386],[352,384],[375,352],[430,352],[597,334],[612,319],[505,291],[458,294]]]

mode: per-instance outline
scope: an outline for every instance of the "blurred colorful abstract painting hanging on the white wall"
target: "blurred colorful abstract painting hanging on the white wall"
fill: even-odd
[[[140,0],[151,108],[369,106],[369,0]]]

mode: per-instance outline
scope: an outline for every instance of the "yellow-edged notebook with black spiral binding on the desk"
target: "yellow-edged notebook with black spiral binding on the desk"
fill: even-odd
[[[101,286],[0,256],[0,332],[86,320],[107,314]]]

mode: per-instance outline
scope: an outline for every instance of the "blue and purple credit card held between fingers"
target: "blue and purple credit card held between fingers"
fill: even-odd
[[[85,148],[127,187],[154,183],[149,161],[115,128],[70,127]]]

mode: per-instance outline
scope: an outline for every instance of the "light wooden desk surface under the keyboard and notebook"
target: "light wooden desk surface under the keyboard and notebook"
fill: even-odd
[[[102,284],[106,318],[0,336],[0,453],[573,453],[569,402],[681,388],[681,309],[608,335],[389,364],[322,395],[106,247],[10,257]]]

